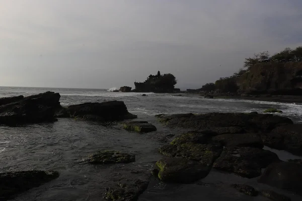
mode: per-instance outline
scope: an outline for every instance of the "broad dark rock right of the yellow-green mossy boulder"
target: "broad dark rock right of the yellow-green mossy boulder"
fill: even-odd
[[[261,175],[261,169],[280,161],[268,150],[254,147],[225,147],[213,164],[213,168],[253,178]]]

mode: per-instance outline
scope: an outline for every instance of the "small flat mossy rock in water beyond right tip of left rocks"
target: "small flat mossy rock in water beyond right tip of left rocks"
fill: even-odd
[[[157,130],[154,125],[145,121],[125,122],[123,123],[123,127],[127,131],[134,131],[137,133],[149,133]]]

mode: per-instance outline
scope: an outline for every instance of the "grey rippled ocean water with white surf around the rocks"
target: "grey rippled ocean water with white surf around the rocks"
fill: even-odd
[[[2,126],[0,127],[0,172],[32,169],[60,172],[59,178],[26,191],[14,200],[105,200],[104,190],[117,183],[116,178],[139,177],[139,174],[133,174],[133,170],[136,172],[152,170],[155,162],[163,157],[157,151],[161,145],[167,143],[163,140],[163,136],[181,132],[159,124],[155,118],[157,114],[262,113],[267,108],[276,108],[283,111],[278,115],[288,117],[295,123],[302,121],[302,105],[299,104],[207,99],[197,95],[145,93],[147,96],[142,96],[143,93],[112,92],[109,89],[0,87],[0,97],[27,96],[45,91],[60,93],[62,106],[122,100],[130,113],[138,115],[137,120],[154,124],[158,131],[136,134],[123,130],[119,124],[103,126],[74,119],[59,119],[54,123],[22,127]],[[115,165],[83,163],[83,159],[98,150],[121,150],[133,153],[136,161],[132,164]],[[288,153],[281,151],[282,154],[284,156]],[[288,154],[286,158],[300,157]],[[210,174],[205,181],[246,179],[237,176],[231,178],[229,174],[218,172]],[[256,181],[251,179],[250,182]],[[203,200],[221,198],[234,200],[232,195],[228,198],[228,193],[223,190],[220,190],[221,197],[217,194],[212,196],[210,192],[217,193],[215,189],[195,184],[167,185],[154,179],[138,200],[199,200],[200,196],[203,196]]]

